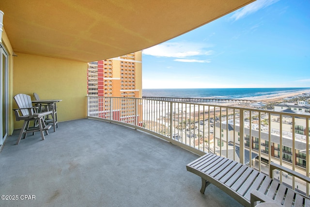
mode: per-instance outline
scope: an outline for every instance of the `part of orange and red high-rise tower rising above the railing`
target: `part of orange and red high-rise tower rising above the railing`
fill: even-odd
[[[88,64],[88,95],[142,97],[142,52]]]

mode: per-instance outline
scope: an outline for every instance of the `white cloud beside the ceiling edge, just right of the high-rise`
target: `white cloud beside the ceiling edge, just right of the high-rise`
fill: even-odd
[[[205,50],[210,46],[191,42],[165,42],[151,48],[144,49],[144,55],[156,57],[186,58],[198,55],[210,55],[212,50]]]

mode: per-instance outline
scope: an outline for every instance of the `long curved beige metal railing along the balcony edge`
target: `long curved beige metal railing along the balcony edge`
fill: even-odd
[[[229,104],[88,96],[88,118],[134,127],[196,154],[215,153],[266,175],[272,161],[309,176],[310,114]],[[309,195],[309,185],[298,178],[279,172],[274,178]]]

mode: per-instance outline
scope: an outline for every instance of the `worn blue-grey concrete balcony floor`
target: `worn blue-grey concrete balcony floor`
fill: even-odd
[[[0,153],[1,207],[241,206],[186,171],[199,156],[153,135],[91,119],[59,123],[45,141],[16,131]],[[21,200],[34,195],[35,200]]]

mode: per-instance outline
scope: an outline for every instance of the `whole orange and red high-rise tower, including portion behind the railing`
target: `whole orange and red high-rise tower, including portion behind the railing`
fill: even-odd
[[[89,103],[90,111],[98,117],[142,124],[142,108],[135,107],[134,99],[142,97],[141,51],[89,63],[87,87],[89,96],[98,96]],[[112,96],[120,98],[113,103],[105,98]],[[110,107],[113,114],[107,112]]]

